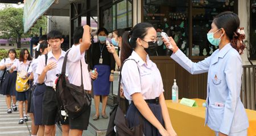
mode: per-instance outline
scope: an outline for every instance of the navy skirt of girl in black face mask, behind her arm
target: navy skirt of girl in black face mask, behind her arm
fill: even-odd
[[[162,109],[160,104],[148,104],[148,107],[151,109],[151,111],[154,113],[155,117],[158,119],[158,121],[164,126],[164,120],[162,115]],[[128,121],[129,127],[137,126],[141,124],[141,121],[143,120],[143,133],[146,136],[156,136],[160,133],[158,129],[155,128],[150,122],[146,120],[142,116],[142,114],[139,112],[139,110],[135,107],[133,103],[129,105],[126,119]]]

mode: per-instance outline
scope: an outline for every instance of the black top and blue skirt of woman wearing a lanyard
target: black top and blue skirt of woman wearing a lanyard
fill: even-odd
[[[90,46],[90,69],[97,69],[97,80],[93,81],[94,95],[109,95],[110,71],[115,70],[115,60],[112,53],[108,52],[106,43],[96,42]]]

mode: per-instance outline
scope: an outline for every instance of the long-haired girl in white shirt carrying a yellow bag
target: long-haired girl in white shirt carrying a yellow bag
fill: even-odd
[[[18,73],[21,76],[25,76],[28,78],[28,68],[30,66],[32,58],[30,57],[30,53],[27,49],[20,50],[19,61],[16,61],[14,65],[11,67],[11,70],[17,69]],[[17,92],[16,100],[19,101],[19,124],[23,124],[24,121],[28,121],[27,118],[27,100],[28,100],[28,91]],[[23,105],[25,107],[24,115],[23,115]]]

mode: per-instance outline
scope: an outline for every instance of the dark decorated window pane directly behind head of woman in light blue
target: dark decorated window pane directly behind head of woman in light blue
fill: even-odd
[[[192,56],[210,56],[218,46],[207,40],[214,16],[223,11],[233,11],[234,0],[192,1]]]

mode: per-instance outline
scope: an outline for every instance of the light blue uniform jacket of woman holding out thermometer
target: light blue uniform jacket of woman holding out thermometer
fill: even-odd
[[[242,60],[230,43],[198,63],[193,63],[181,50],[171,58],[191,74],[208,72],[205,124],[210,129],[227,135],[247,133],[248,118],[240,99]],[[240,136],[243,135],[247,134]]]

